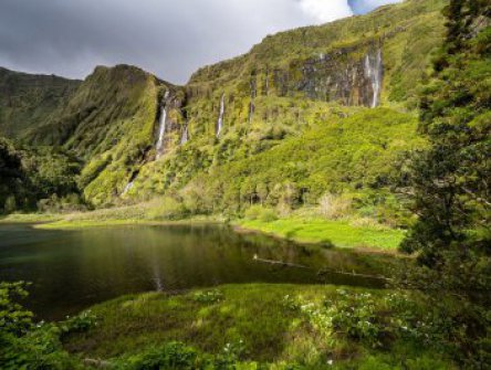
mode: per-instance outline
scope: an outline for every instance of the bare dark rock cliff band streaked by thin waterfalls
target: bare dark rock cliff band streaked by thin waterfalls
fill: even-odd
[[[384,86],[384,60],[382,45],[375,43],[341,47],[331,53],[293,60],[285,67],[255,65],[250,73],[236,80],[236,89],[230,98],[243,99],[248,120],[255,112],[255,99],[260,96],[299,97],[323,102],[335,102],[346,106],[376,107],[380,104]],[[213,99],[221,83],[211,80],[187,88],[190,102]],[[213,105],[215,106],[215,105]],[[221,104],[215,106],[220,116]],[[218,136],[219,125],[216,127]]]

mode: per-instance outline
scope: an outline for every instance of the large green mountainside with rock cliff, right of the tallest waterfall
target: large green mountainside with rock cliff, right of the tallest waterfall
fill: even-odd
[[[412,0],[368,15],[268,36],[245,55],[198,71],[186,86],[188,140],[145,166],[127,197],[140,200],[178,190],[198,173],[202,176],[191,188],[197,198],[209,199],[205,209],[212,210],[237,211],[245,199],[262,202],[273,188],[289,182],[294,182],[293,204],[315,203],[323,192],[345,188],[389,189],[387,168],[416,140],[416,120],[411,114],[401,118],[405,114],[396,109],[414,106],[418,81],[430,71],[431,52],[445,33],[445,3]],[[320,128],[378,105],[393,110],[357,116],[353,120],[367,119],[366,127],[354,126],[345,137],[342,130]],[[395,124],[378,148],[358,140],[367,134],[376,137],[384,125],[401,119],[406,124]],[[353,120],[346,125],[351,127]],[[299,139],[305,130],[316,140],[309,152]],[[276,158],[278,151],[270,149],[285,138],[294,142],[292,150]],[[318,148],[332,148],[330,140],[332,146],[339,142],[344,151],[332,149],[327,158]],[[353,145],[344,146],[344,140]],[[354,168],[363,158],[364,168]],[[318,163],[313,173],[307,170],[311,159]],[[285,161],[302,166],[285,169]],[[273,170],[273,165],[281,166]],[[233,172],[241,166],[242,175]],[[292,172],[296,175],[291,177]],[[208,176],[218,182],[203,180]],[[263,197],[251,195],[257,188],[263,189]]]

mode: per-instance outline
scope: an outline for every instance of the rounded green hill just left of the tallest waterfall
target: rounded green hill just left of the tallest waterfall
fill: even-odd
[[[29,140],[61,146],[84,160],[81,189],[101,204],[121,194],[138,166],[155,158],[166,91],[177,94],[137,67],[97,67],[65,106],[29,134]]]

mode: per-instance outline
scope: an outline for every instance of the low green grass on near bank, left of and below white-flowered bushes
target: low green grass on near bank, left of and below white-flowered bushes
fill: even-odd
[[[348,293],[366,293],[346,288]],[[396,341],[375,350],[337,334],[326,337],[285,296],[318,304],[334,297],[334,286],[229,285],[213,290],[168,296],[125,296],[95,306],[98,325],[65,339],[65,348],[85,358],[113,359],[178,340],[203,352],[240,347],[242,361],[297,363],[333,369],[452,369],[437,353]],[[387,292],[369,292],[377,302]],[[380,299],[378,299],[380,298]],[[382,306],[383,304],[380,304]],[[383,310],[384,308],[380,307]],[[252,367],[251,367],[252,369]]]

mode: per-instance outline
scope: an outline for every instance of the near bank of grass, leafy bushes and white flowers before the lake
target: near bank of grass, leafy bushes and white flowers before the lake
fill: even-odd
[[[446,325],[453,317],[435,320],[424,300],[412,303],[417,295],[224,286],[122,297],[63,323],[36,326],[18,304],[24,295],[22,285],[0,286],[6,370],[457,369],[446,352],[455,335]]]

